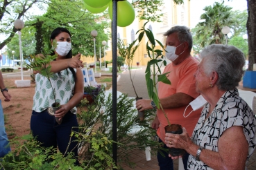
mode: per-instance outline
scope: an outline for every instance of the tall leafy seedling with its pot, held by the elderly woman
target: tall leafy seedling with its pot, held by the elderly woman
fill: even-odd
[[[144,34],[146,34],[146,37],[148,37],[148,42],[146,43],[146,50],[148,53],[148,57],[150,57],[150,60],[148,61],[148,64],[146,66],[146,86],[148,89],[148,96],[158,109],[162,110],[162,113],[164,113],[164,117],[167,119],[168,125],[164,127],[166,133],[175,133],[175,134],[181,134],[182,133],[182,126],[180,124],[171,124],[167,113],[165,113],[164,108],[162,107],[162,104],[160,103],[158,93],[157,93],[157,82],[162,82],[165,84],[171,84],[170,80],[167,78],[167,75],[169,73],[161,73],[160,70],[160,63],[164,64],[164,66],[167,65],[167,62],[164,59],[164,56],[162,55],[162,50],[157,49],[157,44],[159,44],[163,49],[164,46],[160,41],[154,38],[153,32],[149,29],[145,28],[146,23],[142,27],[142,29],[138,30],[139,32],[139,42],[142,41]],[[185,151],[183,149],[176,149],[176,148],[169,148],[169,153],[172,156],[178,156],[183,155]]]

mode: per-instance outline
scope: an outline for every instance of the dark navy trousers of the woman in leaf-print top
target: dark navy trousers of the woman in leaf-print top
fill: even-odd
[[[62,154],[73,152],[78,156],[78,142],[74,142],[76,138],[72,136],[69,144],[71,131],[77,131],[78,122],[76,115],[70,111],[62,118],[62,123],[58,124],[54,116],[49,115],[47,110],[37,113],[32,112],[31,115],[31,131],[34,137],[42,143],[42,147],[54,147],[60,150]],[[68,147],[68,149],[67,149]],[[67,150],[67,152],[66,152]]]

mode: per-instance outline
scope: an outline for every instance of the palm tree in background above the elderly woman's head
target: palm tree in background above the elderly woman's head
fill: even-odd
[[[224,6],[223,3],[215,2],[213,6],[206,6],[205,13],[200,19],[205,21],[196,25],[197,39],[201,39],[200,46],[205,47],[210,44],[223,44],[225,36],[221,32],[223,26],[231,26],[234,19],[231,16],[232,7]]]

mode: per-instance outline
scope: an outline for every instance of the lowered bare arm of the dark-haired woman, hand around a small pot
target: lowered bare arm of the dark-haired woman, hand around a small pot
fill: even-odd
[[[74,108],[83,99],[83,73],[80,68],[76,68],[76,84],[74,95],[67,104],[64,104],[56,111],[56,117],[63,117],[71,108]]]

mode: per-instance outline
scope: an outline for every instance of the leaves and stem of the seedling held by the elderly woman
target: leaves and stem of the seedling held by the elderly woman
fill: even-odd
[[[148,23],[148,22],[146,22]],[[164,108],[162,107],[162,104],[160,103],[159,97],[157,95],[157,82],[163,82],[165,84],[171,84],[170,80],[167,78],[167,74],[169,73],[161,73],[159,62],[162,62],[164,66],[167,65],[167,62],[163,60],[164,56],[162,55],[162,50],[156,49],[157,44],[159,44],[163,49],[164,46],[160,41],[155,39],[153,32],[149,29],[146,29],[146,23],[144,23],[144,26],[142,29],[138,30],[136,32],[139,33],[139,42],[142,41],[144,35],[146,34],[146,37],[148,37],[148,41],[146,42],[146,51],[148,53],[148,57],[150,57],[150,61],[148,61],[148,64],[146,66],[146,86],[148,89],[148,97],[150,100],[153,100],[155,105],[158,109],[162,109],[164,113],[164,117],[167,119],[168,124],[170,125],[170,122],[168,120],[167,114],[164,112]]]

